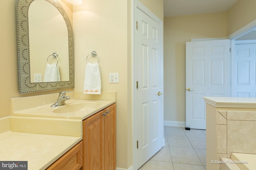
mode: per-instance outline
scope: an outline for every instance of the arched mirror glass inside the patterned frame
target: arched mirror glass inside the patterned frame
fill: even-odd
[[[68,29],[57,8],[34,0],[28,9],[28,28],[30,82],[69,81]]]

